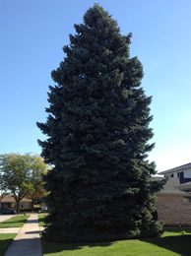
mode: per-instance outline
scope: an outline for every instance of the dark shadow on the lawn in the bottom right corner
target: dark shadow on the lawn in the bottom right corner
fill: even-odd
[[[159,247],[178,253],[182,256],[191,255],[191,235],[165,236],[159,238],[140,239],[140,241],[155,244]]]

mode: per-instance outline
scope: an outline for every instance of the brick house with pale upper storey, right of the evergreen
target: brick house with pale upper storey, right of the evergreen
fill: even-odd
[[[191,163],[161,171],[159,174],[168,177],[163,189],[157,193],[159,221],[164,221],[166,225],[191,226]]]

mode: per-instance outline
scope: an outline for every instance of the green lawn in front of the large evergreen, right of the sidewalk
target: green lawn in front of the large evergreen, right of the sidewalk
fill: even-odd
[[[44,256],[190,256],[191,228],[168,228],[159,238],[61,244],[42,240]]]

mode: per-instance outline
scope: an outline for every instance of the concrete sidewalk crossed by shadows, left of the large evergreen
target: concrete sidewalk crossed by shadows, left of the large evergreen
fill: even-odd
[[[42,256],[38,216],[31,215],[4,256]]]

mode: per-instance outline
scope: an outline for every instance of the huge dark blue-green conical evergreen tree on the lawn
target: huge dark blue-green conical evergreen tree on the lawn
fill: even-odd
[[[131,34],[95,5],[75,25],[66,57],[52,72],[46,123],[39,141],[53,169],[46,177],[51,241],[100,241],[157,235],[153,218],[155,164],[143,69],[129,56]]]

